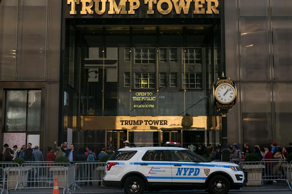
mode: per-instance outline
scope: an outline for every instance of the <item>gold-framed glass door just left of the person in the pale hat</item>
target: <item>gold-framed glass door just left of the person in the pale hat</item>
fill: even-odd
[[[123,148],[124,131],[107,131],[107,151]]]

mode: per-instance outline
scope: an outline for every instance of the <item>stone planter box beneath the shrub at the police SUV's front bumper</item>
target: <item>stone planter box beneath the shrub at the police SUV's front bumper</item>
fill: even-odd
[[[240,165],[240,168],[246,172],[246,180],[248,180],[245,185],[247,187],[261,187],[262,186],[262,169],[265,165],[255,164],[255,165]]]

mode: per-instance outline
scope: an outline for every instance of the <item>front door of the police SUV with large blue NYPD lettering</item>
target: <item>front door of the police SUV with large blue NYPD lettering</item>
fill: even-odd
[[[201,160],[193,162],[195,155],[182,149],[169,149],[172,186],[196,187],[204,182],[204,165]]]

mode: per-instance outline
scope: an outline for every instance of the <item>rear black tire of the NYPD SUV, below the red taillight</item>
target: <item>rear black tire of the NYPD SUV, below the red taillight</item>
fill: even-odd
[[[139,177],[129,177],[124,183],[125,194],[142,194],[145,190],[145,183]]]

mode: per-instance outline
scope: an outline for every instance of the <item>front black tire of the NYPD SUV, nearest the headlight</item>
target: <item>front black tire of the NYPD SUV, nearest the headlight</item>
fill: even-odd
[[[229,180],[222,175],[214,176],[208,183],[209,192],[212,194],[226,194],[229,192]]]

